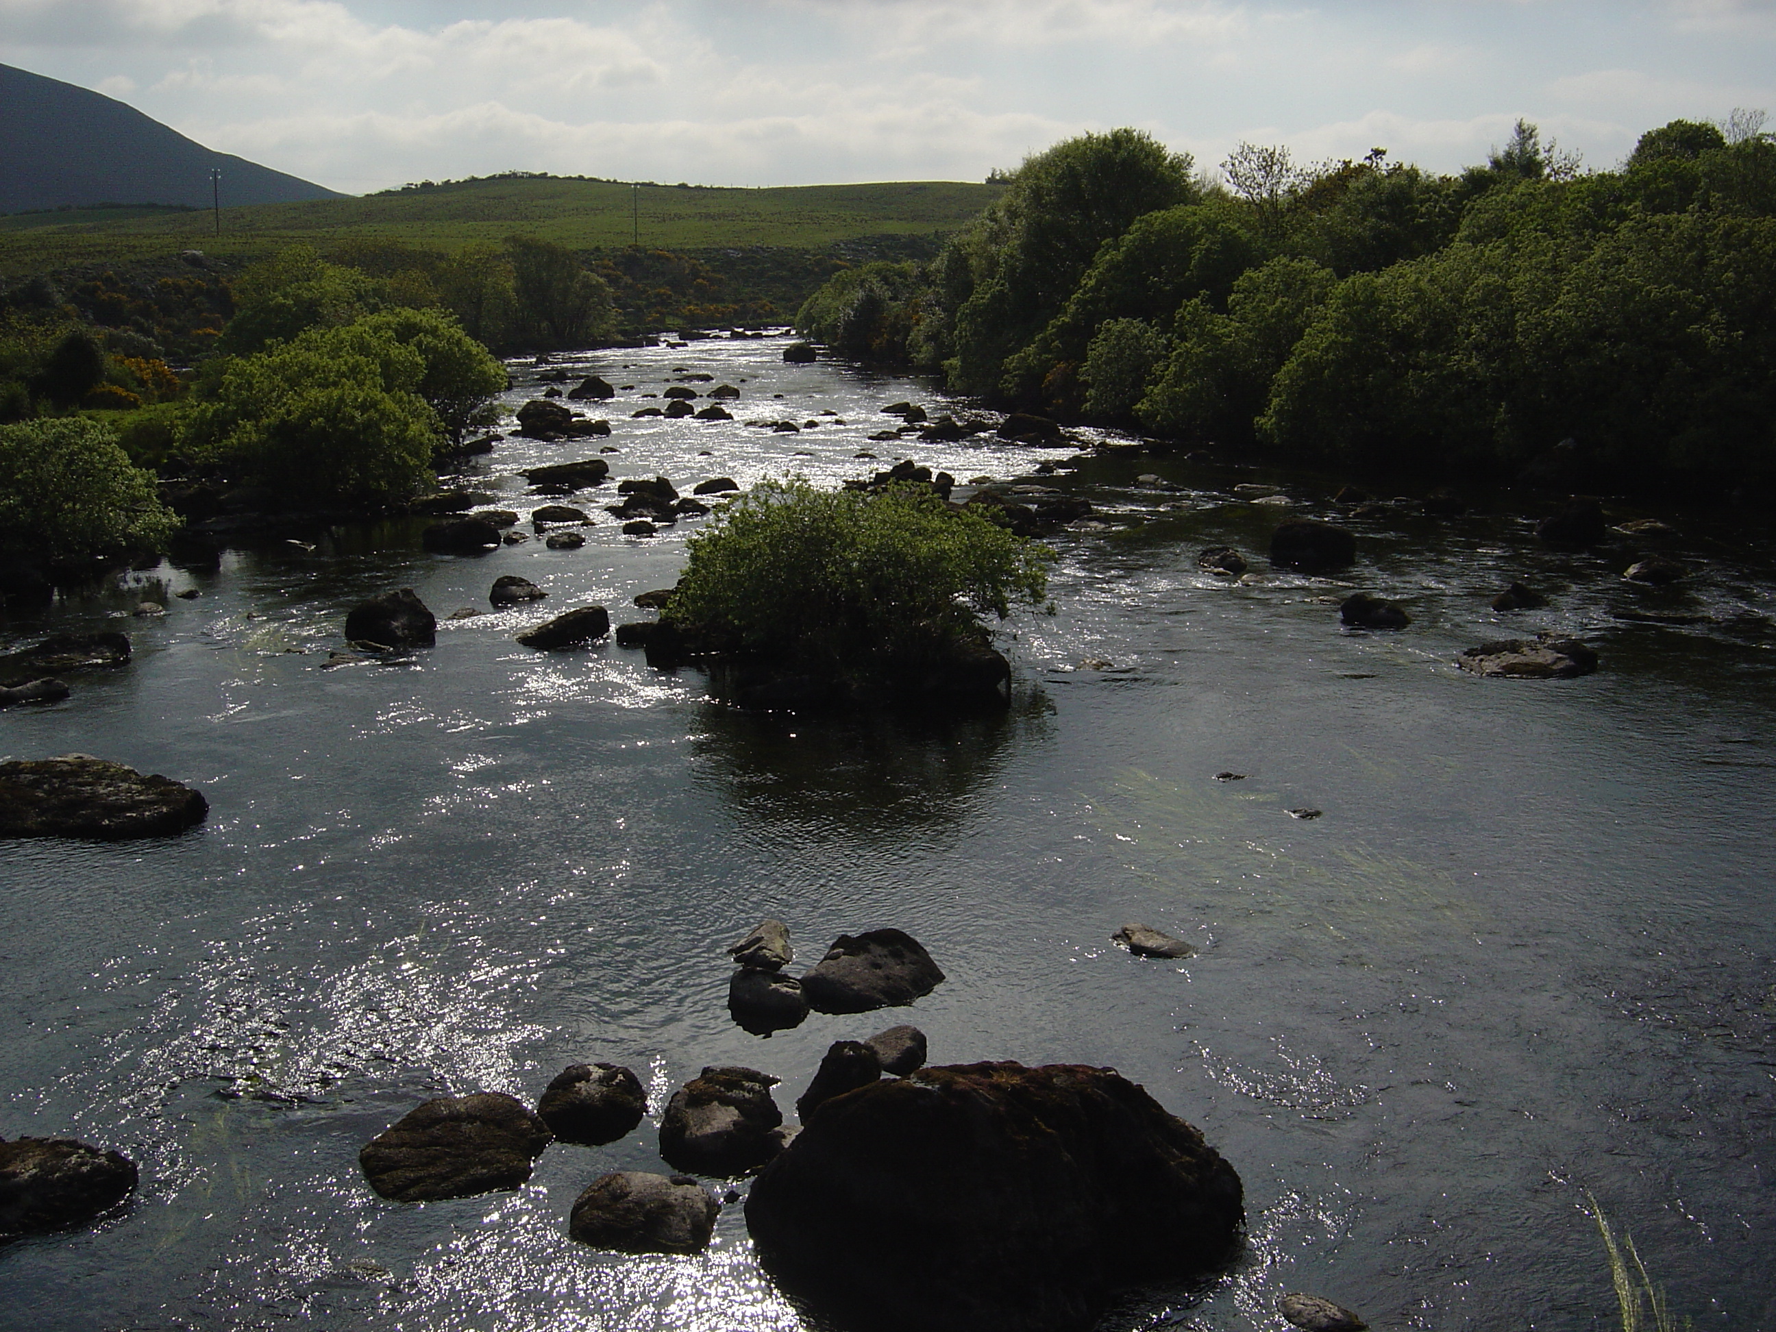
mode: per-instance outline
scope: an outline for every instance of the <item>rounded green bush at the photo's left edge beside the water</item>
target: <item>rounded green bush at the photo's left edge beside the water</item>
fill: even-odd
[[[155,476],[83,417],[0,426],[0,556],[59,563],[156,551],[179,520]]]

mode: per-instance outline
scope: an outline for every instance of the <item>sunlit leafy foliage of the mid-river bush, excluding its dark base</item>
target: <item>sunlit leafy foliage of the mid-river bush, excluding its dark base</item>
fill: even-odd
[[[929,488],[764,481],[687,542],[668,618],[838,671],[916,659],[1039,604],[1053,554]]]

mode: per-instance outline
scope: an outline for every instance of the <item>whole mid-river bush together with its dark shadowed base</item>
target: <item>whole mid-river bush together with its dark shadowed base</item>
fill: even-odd
[[[1041,606],[1055,558],[929,487],[803,480],[753,487],[687,545],[668,638],[744,707],[1002,696],[986,616]]]

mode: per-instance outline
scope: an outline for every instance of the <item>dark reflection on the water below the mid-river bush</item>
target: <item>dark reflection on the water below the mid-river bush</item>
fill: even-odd
[[[693,773],[744,817],[819,840],[931,829],[966,817],[1014,748],[1051,735],[1041,691],[968,716],[797,718],[710,707]]]

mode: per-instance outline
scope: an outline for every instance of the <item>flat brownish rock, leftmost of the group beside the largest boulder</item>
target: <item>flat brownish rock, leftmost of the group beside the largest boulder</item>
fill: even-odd
[[[504,1092],[440,1096],[364,1144],[357,1162],[384,1197],[433,1202],[517,1188],[549,1137],[549,1126]]]

